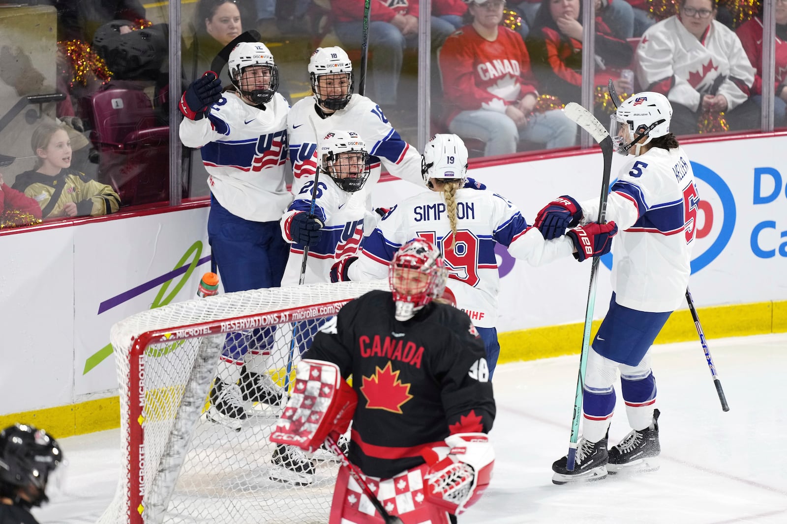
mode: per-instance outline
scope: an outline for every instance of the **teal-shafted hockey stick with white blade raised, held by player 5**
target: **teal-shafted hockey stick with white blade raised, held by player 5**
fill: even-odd
[[[604,174],[601,178],[601,197],[598,206],[599,224],[604,223],[604,215],[607,214],[607,195],[609,192],[609,177],[612,170],[612,138],[604,126],[586,108],[576,102],[569,102],[563,109],[565,115],[574,121],[582,129],[586,130],[593,139],[601,146],[601,153],[604,155]],[[598,275],[599,257],[593,257],[593,264],[590,266],[590,288],[588,291],[588,302],[585,309],[585,332],[582,334],[582,353],[579,357],[579,374],[577,377],[577,390],[574,397],[574,418],[571,420],[571,441],[568,445],[568,460],[566,469],[574,471],[574,464],[577,456],[577,440],[579,434],[579,419],[582,413],[582,387],[585,384],[585,370],[588,363],[588,348],[590,346],[590,327],[593,324],[593,308],[596,306],[596,278]]]

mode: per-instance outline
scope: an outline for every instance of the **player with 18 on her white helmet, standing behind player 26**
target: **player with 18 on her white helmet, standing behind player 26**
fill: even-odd
[[[309,59],[309,79],[314,98],[297,101],[287,117],[294,194],[317,169],[320,138],[334,129],[355,130],[369,148],[370,175],[364,194],[371,194],[377,184],[381,163],[390,174],[420,183],[418,151],[401,139],[378,104],[353,93],[353,62],[344,49],[318,47]]]

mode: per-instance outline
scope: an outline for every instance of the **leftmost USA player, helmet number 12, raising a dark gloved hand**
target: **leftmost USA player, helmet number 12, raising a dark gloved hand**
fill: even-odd
[[[218,94],[221,82],[209,71],[183,94],[179,134],[183,145],[201,148],[209,173],[208,239],[224,291],[272,288],[287,258],[279,218],[292,200],[284,180],[290,105],[276,92],[279,71],[264,44],[239,43],[228,66],[235,90]],[[268,328],[227,337],[210,392],[212,420],[240,427],[244,403],[279,401],[267,373],[271,336]]]

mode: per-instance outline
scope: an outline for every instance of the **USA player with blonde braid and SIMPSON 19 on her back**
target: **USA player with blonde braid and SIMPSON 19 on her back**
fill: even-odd
[[[500,353],[495,328],[500,287],[495,243],[508,247],[514,257],[539,266],[570,256],[581,236],[588,237],[591,255],[603,255],[609,251],[617,228],[613,222],[592,223],[555,240],[544,240],[504,196],[465,187],[467,148],[455,134],[431,138],[423,152],[421,173],[431,191],[391,208],[366,239],[360,257],[334,264],[331,280],[384,278],[399,247],[416,237],[429,240],[445,258],[456,306],[467,313],[484,341],[491,377]],[[575,256],[586,258],[584,251]]]

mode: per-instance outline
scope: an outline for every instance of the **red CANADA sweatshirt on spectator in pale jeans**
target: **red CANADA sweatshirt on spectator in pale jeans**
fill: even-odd
[[[440,50],[445,99],[452,104],[446,121],[461,111],[505,106],[525,93],[536,93],[530,56],[518,33],[500,27],[490,42],[467,25],[445,40]]]

